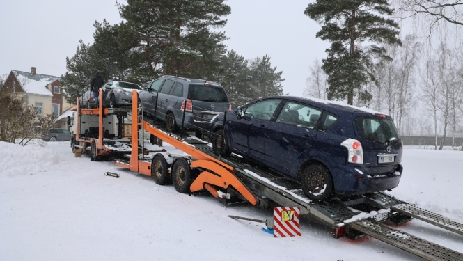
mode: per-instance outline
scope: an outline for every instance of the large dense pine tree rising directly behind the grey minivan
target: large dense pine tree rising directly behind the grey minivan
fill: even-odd
[[[217,58],[226,52],[220,42],[226,36],[211,29],[224,26],[221,17],[231,12],[223,0],[128,0],[118,8],[152,77],[216,74]]]

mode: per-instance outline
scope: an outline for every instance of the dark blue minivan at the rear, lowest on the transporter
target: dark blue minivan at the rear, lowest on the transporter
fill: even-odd
[[[326,100],[266,97],[212,120],[215,154],[235,152],[301,183],[313,201],[393,189],[402,141],[390,116]]]

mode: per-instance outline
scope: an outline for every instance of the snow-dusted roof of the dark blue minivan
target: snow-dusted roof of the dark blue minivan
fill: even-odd
[[[361,113],[387,115],[386,113],[368,109],[366,107],[356,107],[356,106],[352,106],[349,104],[345,104],[340,101],[322,100],[322,99],[317,99],[314,97],[271,96],[271,97],[266,97],[265,99],[267,98],[278,98],[278,99],[292,100],[295,102],[302,102],[306,104],[312,104],[313,106],[317,106],[320,109],[324,109],[325,111],[331,111],[333,113],[336,113],[337,111],[344,111],[344,112],[347,111],[350,113],[361,112]]]

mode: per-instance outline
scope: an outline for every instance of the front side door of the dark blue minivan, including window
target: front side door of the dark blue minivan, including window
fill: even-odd
[[[237,150],[255,159],[263,159],[265,129],[281,100],[262,100],[246,106],[242,116],[237,116],[229,125],[232,141]]]

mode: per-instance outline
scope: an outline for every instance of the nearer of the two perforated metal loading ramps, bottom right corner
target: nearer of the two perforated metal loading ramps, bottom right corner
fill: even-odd
[[[406,232],[384,226],[382,223],[372,223],[371,221],[364,220],[350,223],[349,226],[365,235],[375,237],[375,239],[418,255],[425,260],[463,261],[462,253],[434,244],[420,237],[415,237]]]

